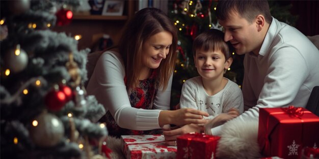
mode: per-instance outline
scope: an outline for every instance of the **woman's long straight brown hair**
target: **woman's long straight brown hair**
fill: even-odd
[[[169,54],[158,67],[159,86],[164,90],[175,67],[177,49],[177,30],[166,14],[156,8],[144,8],[137,12],[126,24],[119,42],[119,52],[125,65],[126,86],[135,88],[139,83],[139,71],[142,68],[142,45],[148,38],[161,32],[172,34],[173,41]]]

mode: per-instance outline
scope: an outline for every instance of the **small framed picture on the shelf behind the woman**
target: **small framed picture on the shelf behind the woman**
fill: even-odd
[[[105,1],[102,15],[121,16],[123,14],[124,1]]]

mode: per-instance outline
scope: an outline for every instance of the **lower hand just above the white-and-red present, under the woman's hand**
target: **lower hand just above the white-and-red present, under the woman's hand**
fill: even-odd
[[[175,126],[173,128],[163,128],[163,129],[164,129],[163,134],[165,137],[166,144],[174,145],[174,146],[176,146],[176,139],[180,135],[192,133],[192,132],[197,132],[197,133],[204,132],[204,127],[198,124],[187,124],[182,126],[181,128],[178,126]]]

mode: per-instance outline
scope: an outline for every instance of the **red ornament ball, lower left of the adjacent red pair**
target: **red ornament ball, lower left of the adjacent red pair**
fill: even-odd
[[[45,105],[51,111],[59,111],[66,104],[65,93],[61,90],[51,90],[45,96]]]

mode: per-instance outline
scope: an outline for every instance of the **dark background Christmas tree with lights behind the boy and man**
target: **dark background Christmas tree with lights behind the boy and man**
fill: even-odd
[[[182,84],[185,80],[198,76],[194,66],[192,52],[193,40],[205,30],[216,28],[223,30],[216,18],[217,0],[209,1],[169,1],[169,17],[175,22],[178,31],[178,59],[176,61],[171,106],[179,103]],[[273,17],[290,25],[295,25],[297,16],[290,14],[291,5],[282,5],[278,1],[269,1]],[[236,82],[240,87],[244,78],[244,55],[237,55],[233,52],[233,63],[225,73],[225,77]],[[174,109],[174,108],[172,108]]]

